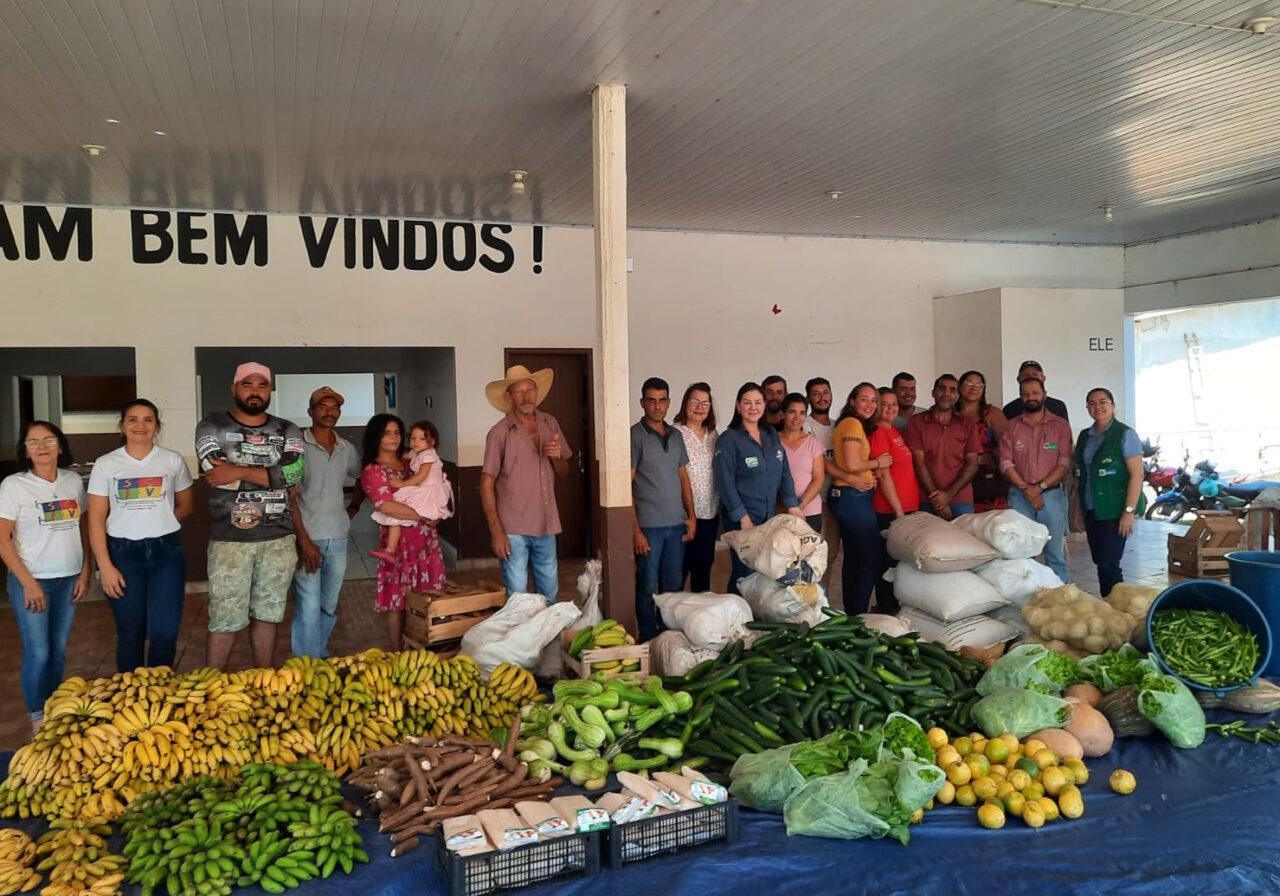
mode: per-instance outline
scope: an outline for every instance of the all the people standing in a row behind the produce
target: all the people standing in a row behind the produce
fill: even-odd
[[[892,564],[881,532],[924,511],[943,518],[1011,507],[1051,532],[1046,562],[1066,577],[1064,484],[1079,477],[1082,525],[1102,594],[1121,580],[1125,538],[1140,512],[1142,448],[1115,420],[1112,394],[1085,397],[1093,425],[1074,448],[1066,407],[1044,393],[1041,365],[1019,371],[1020,396],[1004,410],[986,401],[978,371],[943,374],[933,403],[916,404],[915,378],[892,387],[859,383],[832,417],[831,383],[814,378],[790,392],[781,376],[745,383],[717,430],[707,383],[685,389],[671,424],[669,385],[645,380],[643,416],[631,428],[636,617],[640,636],[662,630],[655,593],[710,590],[719,531],[760,525],[777,512],[804,517],[842,553],[844,608],[865,612],[873,591],[896,612],[883,572]],[[557,420],[539,410],[550,370],[513,366],[485,394],[503,416],[485,439],[480,497],[490,545],[508,593],[557,599],[556,479],[572,457]],[[209,666],[225,668],[248,630],[253,662],[271,666],[289,586],[296,655],[326,657],[346,577],[351,518],[367,498],[380,525],[375,609],[392,650],[403,641],[406,595],[439,589],[444,558],[438,525],[452,513],[448,484],[426,420],[406,426],[379,413],[362,444],[337,433],[343,397],[329,387],[310,398],[311,426],[268,413],[271,371],[237,367],[233,408],[196,430],[196,460],[210,486]],[[122,411],[122,445],[97,458],[86,489],[61,430],[27,422],[19,472],[0,481],[0,561],[22,637],[22,690],[33,724],[61,682],[74,607],[96,561],[118,630],[116,667],[173,664],[186,593],[182,521],[193,511],[182,456],[156,443],[159,408],[143,398]],[[355,480],[352,498],[346,484]],[[726,590],[750,570],[731,553]]]

